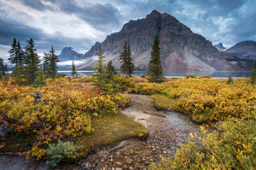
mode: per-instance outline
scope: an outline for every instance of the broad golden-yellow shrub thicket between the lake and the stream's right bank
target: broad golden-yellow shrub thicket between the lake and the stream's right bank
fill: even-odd
[[[228,117],[247,117],[255,110],[256,89],[246,81],[228,84],[212,78],[181,79],[164,83],[163,94],[173,100],[174,109],[191,115],[196,122]]]

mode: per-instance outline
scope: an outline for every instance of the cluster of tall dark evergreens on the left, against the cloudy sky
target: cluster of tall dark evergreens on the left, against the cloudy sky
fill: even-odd
[[[8,60],[15,65],[11,75],[17,78],[19,85],[38,87],[39,84],[44,85],[45,77],[54,78],[57,74],[57,62],[60,59],[55,54],[53,46],[48,53],[44,53],[42,64],[32,38],[27,39],[27,45],[24,48],[21,47],[20,41],[13,38],[11,49],[8,52],[10,53]]]

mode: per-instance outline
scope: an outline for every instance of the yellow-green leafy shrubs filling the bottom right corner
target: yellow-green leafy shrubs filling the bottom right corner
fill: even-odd
[[[207,133],[201,127],[202,137],[191,134],[174,157],[162,158],[150,169],[255,169],[255,124],[255,119],[231,118],[221,122],[218,131]]]

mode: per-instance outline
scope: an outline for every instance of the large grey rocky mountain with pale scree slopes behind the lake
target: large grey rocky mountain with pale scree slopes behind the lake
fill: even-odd
[[[146,18],[131,20],[120,32],[107,36],[102,43],[96,43],[84,56],[93,57],[99,50],[104,52],[106,62],[113,60],[120,66],[118,56],[122,45],[129,40],[135,67],[147,67],[150,60],[151,46],[154,36],[159,34],[161,61],[164,70],[237,70],[243,69],[227,62],[232,55],[220,52],[211,41],[193,33],[186,25],[168,13],[152,11]],[[83,64],[79,68],[95,65],[95,61]]]

